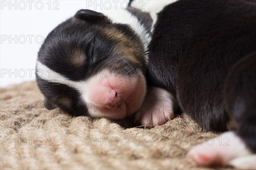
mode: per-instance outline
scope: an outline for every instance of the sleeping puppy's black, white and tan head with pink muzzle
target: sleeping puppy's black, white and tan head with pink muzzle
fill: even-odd
[[[140,108],[146,93],[140,37],[103,14],[80,10],[49,33],[36,66],[48,109],[72,115],[122,119]]]

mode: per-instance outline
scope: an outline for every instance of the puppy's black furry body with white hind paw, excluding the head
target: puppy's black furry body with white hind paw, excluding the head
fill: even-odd
[[[154,108],[154,99],[167,97],[163,89],[174,90],[182,111],[205,130],[235,129],[211,146],[193,148],[189,156],[198,165],[255,169],[256,1],[178,0],[153,20],[148,93],[162,91],[152,93],[147,105]]]

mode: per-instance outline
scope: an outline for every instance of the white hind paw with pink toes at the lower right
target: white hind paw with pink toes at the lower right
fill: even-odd
[[[188,156],[200,166],[232,165],[241,169],[256,169],[256,155],[234,132],[222,133],[208,144],[193,147]]]

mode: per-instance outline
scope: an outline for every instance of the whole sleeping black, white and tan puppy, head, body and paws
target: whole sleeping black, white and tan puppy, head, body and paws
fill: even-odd
[[[181,109],[205,130],[225,131],[232,120],[237,128],[221,136],[230,139],[230,147],[195,147],[193,160],[254,166],[253,1],[179,0],[162,11],[145,7],[149,13],[80,10],[57,26],[38,52],[36,77],[45,106],[112,119],[136,113],[143,125],[161,125],[172,119],[177,94]]]

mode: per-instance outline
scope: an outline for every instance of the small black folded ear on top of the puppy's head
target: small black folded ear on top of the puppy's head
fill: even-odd
[[[90,9],[79,10],[76,13],[75,18],[80,20],[86,20],[86,21],[89,21],[90,23],[99,23],[99,22],[107,23],[108,22],[108,18],[105,15],[103,15],[100,12],[92,11]]]

